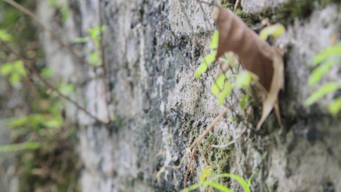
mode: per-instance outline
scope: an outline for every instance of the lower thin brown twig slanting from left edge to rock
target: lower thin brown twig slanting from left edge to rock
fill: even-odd
[[[89,111],[87,111],[84,107],[80,106],[76,101],[74,101],[73,99],[71,99],[69,96],[63,94],[62,92],[60,92],[53,84],[51,84],[47,79],[45,79],[44,77],[42,77],[40,75],[40,73],[30,64],[28,63],[23,57],[21,57],[14,49],[12,49],[6,42],[2,41],[0,39],[1,44],[6,47],[11,53],[13,53],[18,59],[20,59],[22,61],[22,63],[25,65],[25,67],[27,67],[27,69],[35,74],[38,79],[48,88],[52,89],[53,91],[55,91],[59,97],[67,100],[68,102],[72,103],[77,109],[83,111],[86,115],[88,115],[89,117],[91,117],[92,119],[103,123],[103,124],[107,124],[107,122],[103,122],[102,120],[98,119],[96,116],[92,115]]]

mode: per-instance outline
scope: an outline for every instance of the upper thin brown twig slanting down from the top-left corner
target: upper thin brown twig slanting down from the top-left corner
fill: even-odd
[[[18,4],[17,2],[15,2],[14,0],[3,0],[7,3],[9,3],[10,5],[12,5],[13,7],[17,8],[18,10],[20,10],[21,12],[23,12],[24,14],[26,14],[27,16],[31,17],[33,20],[35,20],[42,28],[44,28],[45,30],[47,30],[50,34],[52,34],[52,36],[66,49],[68,49],[77,59],[79,59],[81,62],[88,64],[89,66],[91,66],[91,64],[86,61],[83,57],[81,57],[80,55],[78,55],[78,53],[72,49],[68,44],[66,44],[63,40],[61,40],[61,38],[57,35],[57,33],[55,33],[53,30],[51,30],[50,28],[48,28],[35,14],[33,14],[30,10],[28,10],[27,8],[23,7],[22,5]]]

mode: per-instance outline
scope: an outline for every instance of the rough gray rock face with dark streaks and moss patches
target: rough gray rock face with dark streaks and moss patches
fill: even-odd
[[[108,125],[98,124],[68,105],[69,118],[80,125],[83,192],[179,191],[185,165],[163,173],[160,180],[157,172],[164,165],[177,165],[186,147],[224,109],[210,92],[215,68],[199,80],[194,78],[200,59],[209,53],[215,30],[209,18],[212,7],[182,1],[102,0],[99,4],[98,0],[70,0],[68,19],[55,30],[87,57],[87,50],[95,44],[72,42],[87,35],[88,28],[99,26],[101,18],[106,25],[104,68],[80,63],[48,33],[41,33],[56,77],[76,85],[74,98],[92,114],[111,120]],[[242,0],[241,6],[247,12],[257,12],[257,7],[281,2]],[[37,10],[45,23],[57,26],[45,0]],[[340,16],[337,6],[330,5],[287,26],[287,33],[278,39],[288,48],[286,89],[280,95],[285,126],[276,126],[270,116],[261,134],[252,129],[243,132],[259,119],[257,110],[247,124],[232,121],[235,113],[229,111],[199,146],[215,174],[233,173],[249,179],[256,172],[252,191],[341,191],[340,120],[326,112],[331,96],[318,102],[317,108],[302,107],[313,91],[307,85],[310,60],[332,44],[330,38],[340,28]],[[327,80],[340,82],[338,72],[332,71]],[[232,103],[240,93],[236,95]],[[210,148],[233,139],[236,142],[227,148]],[[202,159],[194,161],[190,184],[199,182],[203,166]],[[242,190],[233,180],[228,184],[235,191]]]

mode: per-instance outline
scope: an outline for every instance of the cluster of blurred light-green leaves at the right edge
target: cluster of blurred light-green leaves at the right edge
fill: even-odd
[[[313,57],[312,64],[316,68],[309,76],[308,85],[310,87],[313,87],[319,83],[322,77],[328,73],[332,67],[336,66],[337,64],[340,65],[334,56],[341,56],[341,43],[324,49]],[[341,89],[341,84],[339,82],[327,82],[314,91],[312,95],[306,99],[304,105],[309,107],[323,98],[325,95],[334,93],[339,89]],[[334,99],[329,104],[328,109],[332,115],[337,115],[341,110],[341,97]]]

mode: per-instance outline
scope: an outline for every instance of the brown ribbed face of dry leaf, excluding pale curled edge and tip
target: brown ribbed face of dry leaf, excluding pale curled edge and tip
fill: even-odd
[[[273,75],[272,59],[274,49],[260,39],[252,29],[231,10],[217,4],[216,24],[219,30],[219,41],[216,58],[226,51],[235,52],[241,59],[243,67],[259,77],[259,82],[269,91]]]

